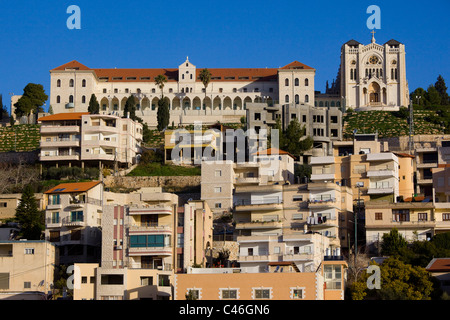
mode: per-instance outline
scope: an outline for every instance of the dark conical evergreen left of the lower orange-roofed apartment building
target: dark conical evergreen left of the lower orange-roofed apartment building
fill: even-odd
[[[44,231],[44,213],[39,210],[31,185],[24,188],[20,203],[16,209],[16,219],[20,225],[20,234],[28,240],[40,240]]]

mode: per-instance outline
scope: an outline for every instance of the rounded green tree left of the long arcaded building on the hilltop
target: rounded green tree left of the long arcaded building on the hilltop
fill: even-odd
[[[47,101],[44,87],[41,84],[29,83],[23,89],[23,95],[14,104],[16,116],[29,116],[32,113],[43,112],[42,106]]]

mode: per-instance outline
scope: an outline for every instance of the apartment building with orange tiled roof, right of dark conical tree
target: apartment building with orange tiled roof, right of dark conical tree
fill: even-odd
[[[98,262],[103,184],[62,183],[46,191],[45,239],[55,244],[61,264]]]

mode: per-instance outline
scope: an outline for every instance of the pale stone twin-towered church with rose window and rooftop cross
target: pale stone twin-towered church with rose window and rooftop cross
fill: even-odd
[[[341,47],[340,94],[345,108],[395,111],[409,106],[405,45],[350,40]]]

